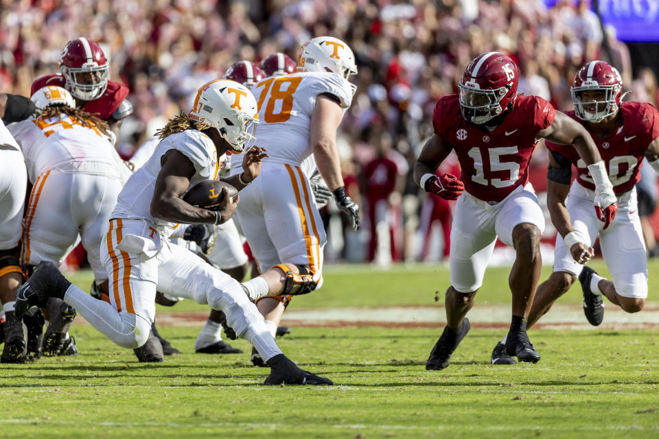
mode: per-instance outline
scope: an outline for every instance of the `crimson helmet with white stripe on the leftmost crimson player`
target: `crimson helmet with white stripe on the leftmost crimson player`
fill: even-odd
[[[62,50],[60,71],[65,88],[84,101],[97,99],[108,86],[110,70],[103,49],[84,36],[69,41]]]

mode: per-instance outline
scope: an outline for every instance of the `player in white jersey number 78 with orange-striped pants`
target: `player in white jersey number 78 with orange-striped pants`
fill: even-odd
[[[256,135],[270,158],[259,179],[242,191],[236,211],[263,273],[243,285],[273,335],[291,296],[323,283],[327,238],[309,180],[316,166],[338,208],[359,227],[359,207],[343,187],[336,147],[336,130],[356,91],[348,82],[357,73],[354,54],[337,38],[312,38],[300,49],[297,70],[252,88],[259,93]],[[231,169],[240,172],[240,165]],[[252,361],[263,365],[256,352]]]

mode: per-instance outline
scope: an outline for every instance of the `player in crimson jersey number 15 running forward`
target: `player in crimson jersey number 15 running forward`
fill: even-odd
[[[447,326],[430,352],[428,370],[448,367],[451,354],[470,329],[467,311],[483,285],[498,237],[516,250],[509,276],[512,321],[505,348],[520,361],[540,355],[527,335],[527,316],[540,278],[540,235],[544,215],[529,181],[529,160],[538,139],[573,144],[594,180],[594,209],[608,226],[617,204],[605,165],[588,132],[541,97],[517,94],[518,68],[506,56],[487,52],[470,62],[459,95],[435,107],[435,134],[421,151],[414,178],[425,191],[457,200],[451,230]],[[462,173],[435,176],[455,150]],[[592,209],[592,207],[591,207]]]

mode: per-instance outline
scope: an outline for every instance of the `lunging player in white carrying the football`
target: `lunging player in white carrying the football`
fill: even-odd
[[[232,200],[227,189],[217,211],[196,208],[181,195],[198,182],[216,178],[218,156],[228,150],[242,152],[253,141],[256,108],[256,99],[242,84],[215,80],[202,86],[189,115],[167,123],[154,154],[119,193],[101,246],[110,278],[108,302],[92,298],[71,285],[54,264],[42,262],[19,289],[16,315],[58,297],[119,346],[136,348],[148,338],[158,290],[223,311],[229,327],[256,346],[270,366],[266,384],[332,384],[281,353],[238,281],[167,239],[177,222],[220,224],[233,215],[238,197]],[[253,147],[244,156],[242,174],[227,182],[242,189],[259,175],[265,157],[264,150]]]

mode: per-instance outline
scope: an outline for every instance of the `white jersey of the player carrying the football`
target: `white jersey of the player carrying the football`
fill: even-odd
[[[161,236],[171,235],[176,224],[151,215],[151,200],[156,179],[162,169],[161,158],[169,150],[181,152],[194,165],[194,176],[190,179],[187,189],[198,182],[215,180],[217,177],[220,170],[218,152],[210,137],[198,130],[171,134],[157,145],[146,163],[128,178],[124,189],[119,193],[112,218],[148,219],[159,229]]]

